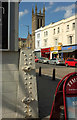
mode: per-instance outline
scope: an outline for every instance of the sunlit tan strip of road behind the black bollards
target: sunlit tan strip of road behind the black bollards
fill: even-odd
[[[71,72],[77,71],[75,67],[66,67],[62,65],[50,65],[50,64],[42,64],[36,63],[36,72],[39,72],[39,67],[41,67],[41,71],[43,75],[52,76],[53,69],[55,68],[55,77],[58,79],[62,79],[65,75]]]

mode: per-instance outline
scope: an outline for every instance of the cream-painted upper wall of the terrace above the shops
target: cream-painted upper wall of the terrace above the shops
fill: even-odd
[[[37,41],[40,41],[40,47],[39,48],[48,48],[48,47],[54,47],[55,45],[55,39],[57,39],[57,43],[62,43],[63,46],[65,45],[74,45],[77,44],[77,39],[75,37],[75,33],[77,31],[76,27],[73,30],[72,24],[75,23],[75,26],[77,25],[77,15],[74,15],[70,18],[63,19],[61,21],[58,21],[56,23],[51,23],[43,28],[40,28],[35,31],[35,48],[38,49]],[[67,31],[67,25],[69,25],[69,31]],[[60,32],[58,33],[58,27]],[[55,29],[55,34],[53,34],[53,31]],[[48,35],[45,35],[45,32],[48,32]],[[40,33],[40,38],[37,38],[37,34]],[[69,36],[72,36],[72,44],[69,43]],[[47,40],[47,44],[45,44],[45,40]],[[58,46],[58,44],[57,44]]]

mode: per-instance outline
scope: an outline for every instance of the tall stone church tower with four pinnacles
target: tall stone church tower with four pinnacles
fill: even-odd
[[[32,8],[32,49],[35,49],[35,30],[44,26],[45,26],[45,6],[43,7],[43,13],[41,13],[41,9],[39,10],[39,13],[37,13],[36,5],[35,13],[34,9]]]

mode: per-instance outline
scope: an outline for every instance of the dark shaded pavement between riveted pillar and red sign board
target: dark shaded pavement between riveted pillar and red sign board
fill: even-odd
[[[52,80],[49,76],[39,76],[38,74],[36,74],[36,78],[38,83],[39,117],[45,118],[50,116],[55,90],[60,80]]]

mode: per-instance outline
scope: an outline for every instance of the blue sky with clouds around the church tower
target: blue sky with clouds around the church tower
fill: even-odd
[[[24,0],[23,0],[24,1]],[[66,19],[75,13],[74,2],[20,2],[19,4],[19,37],[26,38],[32,32],[32,6],[37,12],[45,5],[45,25]]]

